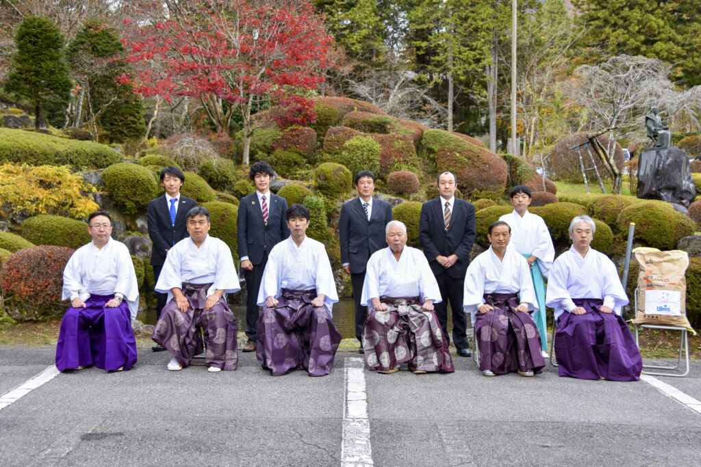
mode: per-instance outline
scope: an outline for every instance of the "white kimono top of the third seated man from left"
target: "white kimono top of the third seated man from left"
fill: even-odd
[[[324,244],[304,237],[298,247],[292,237],[288,237],[273,246],[258,289],[258,305],[264,306],[268,297],[280,298],[283,288],[293,291],[315,288],[317,295],[325,295],[324,306],[329,315],[332,313],[339,295]]]

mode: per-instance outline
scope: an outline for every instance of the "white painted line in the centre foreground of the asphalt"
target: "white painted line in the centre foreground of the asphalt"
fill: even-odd
[[[341,466],[372,466],[370,420],[367,417],[365,363],[346,358],[346,402],[343,406]]]

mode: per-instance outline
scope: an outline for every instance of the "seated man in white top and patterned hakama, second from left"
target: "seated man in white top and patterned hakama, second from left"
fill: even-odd
[[[168,293],[152,339],[168,349],[168,370],[182,370],[207,348],[207,370],[236,370],[236,318],[225,293],[240,290],[231,249],[210,237],[210,213],[193,207],[187,213],[190,234],[170,250],[156,282],[156,292]]]

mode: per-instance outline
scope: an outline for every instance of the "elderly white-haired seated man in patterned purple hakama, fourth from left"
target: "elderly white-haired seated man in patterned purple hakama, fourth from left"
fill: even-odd
[[[362,305],[369,315],[362,346],[370,370],[393,373],[408,362],[417,375],[454,371],[448,343],[433,304],[441,295],[426,256],[407,246],[407,226],[390,221],[385,228],[388,247],[367,263]]]

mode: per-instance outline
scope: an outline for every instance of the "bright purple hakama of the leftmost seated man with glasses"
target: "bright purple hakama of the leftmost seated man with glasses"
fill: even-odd
[[[104,304],[114,295],[90,295],[85,308],[69,307],[56,345],[59,371],[95,365],[106,371],[130,370],[136,363],[136,340],[127,301],[116,308]]]

